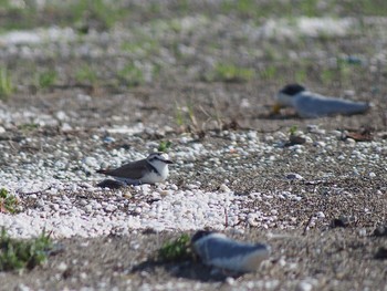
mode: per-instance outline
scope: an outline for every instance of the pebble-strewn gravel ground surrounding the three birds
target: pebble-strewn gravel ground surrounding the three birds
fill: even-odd
[[[0,101],[0,186],[20,200],[0,226],[21,238],[45,229],[63,246],[44,266],[0,272],[0,289],[387,290],[386,236],[373,235],[387,214],[387,18],[339,4],[336,18],[293,20],[226,13],[219,1],[185,13],[174,1],[158,12],[129,4],[138,14],[108,31],[92,22],[84,35],[0,34],[1,64],[18,80]],[[117,83],[125,62],[140,70],[139,84],[134,75]],[[254,74],[219,76],[219,62]],[[96,83],[74,80],[84,64]],[[48,66],[55,85],[31,85],[29,70]],[[373,107],[318,119],[270,114],[294,81]],[[305,143],[290,143],[291,132]],[[95,186],[96,169],[167,141],[176,164],[166,183]],[[149,259],[165,240],[202,228],[266,242],[272,254],[240,277]]]

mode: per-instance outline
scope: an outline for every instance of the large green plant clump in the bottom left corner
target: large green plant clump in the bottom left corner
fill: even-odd
[[[21,240],[11,238],[6,228],[0,236],[0,271],[33,269],[46,261],[53,245],[45,231],[33,239]]]

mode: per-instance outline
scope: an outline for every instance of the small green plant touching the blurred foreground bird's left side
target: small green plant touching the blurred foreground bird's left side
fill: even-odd
[[[175,240],[168,240],[157,251],[157,258],[160,261],[169,262],[192,259],[190,237],[187,233],[184,233]]]

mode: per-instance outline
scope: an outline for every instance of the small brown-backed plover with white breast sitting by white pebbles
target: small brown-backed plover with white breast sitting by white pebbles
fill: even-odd
[[[174,163],[167,154],[153,153],[147,158],[125,164],[115,169],[100,169],[97,173],[112,176],[127,185],[155,184],[168,178],[169,164]]]

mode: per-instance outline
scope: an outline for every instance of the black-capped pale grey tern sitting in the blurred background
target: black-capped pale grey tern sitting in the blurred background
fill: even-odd
[[[355,102],[337,97],[324,96],[307,91],[300,84],[285,85],[275,96],[274,112],[281,107],[293,107],[303,118],[316,118],[322,116],[343,114],[359,114],[369,108],[366,102]]]

